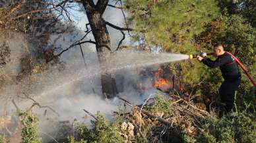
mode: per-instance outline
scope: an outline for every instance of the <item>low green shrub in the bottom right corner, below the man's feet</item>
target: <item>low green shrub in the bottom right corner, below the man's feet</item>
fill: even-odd
[[[255,114],[243,111],[222,119],[208,118],[197,142],[256,142]]]

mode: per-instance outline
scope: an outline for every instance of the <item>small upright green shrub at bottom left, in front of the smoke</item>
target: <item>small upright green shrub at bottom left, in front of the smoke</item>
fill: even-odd
[[[22,124],[22,143],[40,143],[37,132],[38,116],[31,111],[18,111]]]

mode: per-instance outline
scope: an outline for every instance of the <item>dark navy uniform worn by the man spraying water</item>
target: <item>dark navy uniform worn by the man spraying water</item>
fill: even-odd
[[[225,111],[231,111],[234,107],[236,90],[241,82],[241,74],[234,57],[232,57],[230,53],[225,52],[223,55],[218,56],[215,61],[208,58],[205,58],[202,61],[208,67],[220,67],[220,71],[224,78],[224,82],[219,88],[220,100],[225,103]]]

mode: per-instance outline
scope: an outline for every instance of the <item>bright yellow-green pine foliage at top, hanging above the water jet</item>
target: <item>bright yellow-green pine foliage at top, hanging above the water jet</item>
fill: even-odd
[[[126,1],[126,7],[131,25],[143,31],[135,35],[135,40],[174,53],[191,50],[193,35],[199,34],[205,23],[218,15],[213,0],[133,0]]]

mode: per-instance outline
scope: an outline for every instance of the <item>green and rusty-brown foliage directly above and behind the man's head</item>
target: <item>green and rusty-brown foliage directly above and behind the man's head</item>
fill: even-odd
[[[205,26],[205,31],[196,37],[201,47],[223,43],[245,65],[252,65],[256,58],[256,30],[239,15],[220,16]]]

